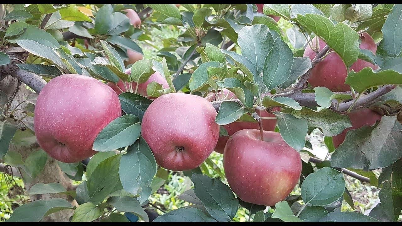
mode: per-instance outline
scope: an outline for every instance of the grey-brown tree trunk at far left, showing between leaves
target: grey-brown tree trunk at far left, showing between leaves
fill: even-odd
[[[4,76],[4,74],[3,74]],[[1,78],[0,78],[1,79]],[[4,79],[0,81],[0,90],[5,92],[7,94],[8,99],[12,96],[14,91],[16,90],[18,84],[18,80],[14,77],[11,76],[6,76]],[[25,98],[30,95],[31,92],[29,89],[26,88],[26,85],[24,83],[21,84],[20,89],[16,93],[16,96],[14,97],[14,100],[11,103],[10,108],[14,109],[16,105],[21,103],[22,101],[25,100]],[[23,108],[25,107],[26,103],[21,104],[18,108]],[[23,117],[25,114],[22,113],[21,111],[15,111],[13,115],[17,118]],[[16,123],[19,128],[25,127],[23,123],[18,122]],[[11,151],[16,151],[21,154],[23,160],[29,156],[29,154],[39,148],[39,145],[37,142],[34,142],[30,146],[15,146],[13,144],[10,144],[9,150]],[[67,190],[72,190],[73,185],[72,185],[72,180],[68,178],[63,171],[59,168],[59,165],[57,164],[57,161],[48,156],[47,162],[42,170],[42,172],[30,183],[27,183],[24,180],[25,184],[25,189],[26,191],[29,191],[29,189],[32,187],[32,185],[35,185],[36,183],[60,183],[62,184]],[[49,199],[49,198],[56,198],[60,197],[63,199],[66,199],[70,201],[72,205],[78,206],[76,201],[72,199],[72,197],[68,195],[61,195],[61,194],[42,194],[42,195],[30,195],[31,201],[35,201],[37,199]],[[50,214],[46,218],[43,218],[43,222],[68,222],[70,217],[73,214],[73,210],[62,210],[59,212],[55,212],[53,214]]]

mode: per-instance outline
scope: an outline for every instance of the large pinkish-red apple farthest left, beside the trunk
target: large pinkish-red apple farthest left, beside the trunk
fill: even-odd
[[[61,162],[79,162],[96,152],[98,133],[121,116],[119,97],[106,84],[88,76],[65,74],[39,93],[34,127],[39,145]]]

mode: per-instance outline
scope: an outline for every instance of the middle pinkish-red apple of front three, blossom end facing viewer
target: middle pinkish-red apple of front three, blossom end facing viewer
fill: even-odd
[[[168,93],[158,97],[142,118],[142,136],[156,163],[173,171],[199,166],[213,151],[219,137],[216,111],[202,97]]]

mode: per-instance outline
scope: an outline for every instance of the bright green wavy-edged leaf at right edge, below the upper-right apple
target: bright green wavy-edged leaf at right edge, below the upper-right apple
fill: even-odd
[[[393,70],[373,72],[373,69],[367,67],[359,72],[349,72],[345,84],[352,86],[356,92],[362,93],[374,86],[402,84],[402,74]]]

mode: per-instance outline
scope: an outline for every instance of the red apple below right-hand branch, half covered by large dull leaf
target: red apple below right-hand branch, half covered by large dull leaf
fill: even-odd
[[[332,137],[332,142],[334,143],[335,148],[337,148],[345,140],[347,131],[351,129],[359,129],[363,125],[374,125],[377,120],[381,120],[381,115],[368,108],[361,109],[359,111],[351,111],[348,115],[351,119],[352,127],[347,128],[343,130],[342,133]]]

